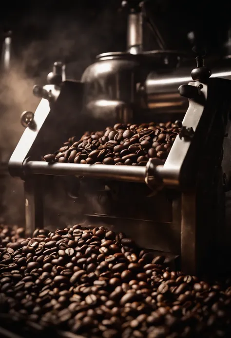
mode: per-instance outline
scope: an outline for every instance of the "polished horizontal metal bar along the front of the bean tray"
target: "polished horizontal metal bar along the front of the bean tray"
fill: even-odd
[[[28,161],[24,164],[26,174],[91,177],[96,179],[116,179],[128,182],[144,182],[146,167],[102,164],[46,163]]]

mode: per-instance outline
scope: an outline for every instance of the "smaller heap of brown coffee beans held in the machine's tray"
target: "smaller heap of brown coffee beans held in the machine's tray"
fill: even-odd
[[[104,131],[72,137],[55,154],[44,156],[53,163],[146,165],[154,158],[163,164],[180,129],[172,122],[121,124]]]

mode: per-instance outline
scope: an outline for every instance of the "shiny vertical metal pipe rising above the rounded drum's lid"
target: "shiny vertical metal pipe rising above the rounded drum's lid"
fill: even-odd
[[[142,11],[131,12],[128,16],[127,49],[131,54],[138,54],[143,47]]]

